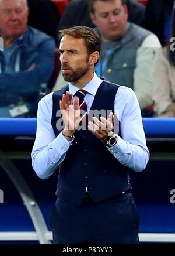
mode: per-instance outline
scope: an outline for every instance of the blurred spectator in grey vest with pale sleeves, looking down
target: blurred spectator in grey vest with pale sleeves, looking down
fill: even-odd
[[[128,22],[124,0],[89,0],[90,16],[101,36],[101,53],[95,71],[97,76],[132,88],[143,117],[152,117],[153,56],[161,47],[157,36],[141,26]],[[54,88],[64,85],[58,77]]]

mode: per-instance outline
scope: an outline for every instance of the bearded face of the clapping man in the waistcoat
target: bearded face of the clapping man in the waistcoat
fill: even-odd
[[[89,70],[89,54],[85,39],[64,35],[60,42],[60,62],[65,81],[76,82]]]

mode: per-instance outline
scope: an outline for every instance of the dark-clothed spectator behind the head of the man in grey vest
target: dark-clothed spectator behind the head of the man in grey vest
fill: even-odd
[[[128,21],[143,26],[145,20],[145,5],[135,1],[126,0],[128,7]],[[87,0],[71,0],[61,17],[59,29],[70,28],[72,26],[89,26],[94,28],[89,15]]]

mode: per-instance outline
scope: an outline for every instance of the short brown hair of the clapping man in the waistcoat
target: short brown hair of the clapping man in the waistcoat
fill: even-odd
[[[94,29],[87,26],[74,26],[72,28],[60,30],[60,40],[64,35],[85,39],[89,55],[95,51],[100,54],[101,40],[99,34]]]

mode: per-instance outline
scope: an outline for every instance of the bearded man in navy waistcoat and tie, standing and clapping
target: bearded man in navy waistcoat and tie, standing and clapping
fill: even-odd
[[[68,86],[38,104],[31,159],[41,179],[59,172],[50,216],[54,244],[138,244],[128,168],[145,169],[149,151],[134,92],[94,73],[99,53],[100,37],[92,28],[62,30],[60,61]]]

